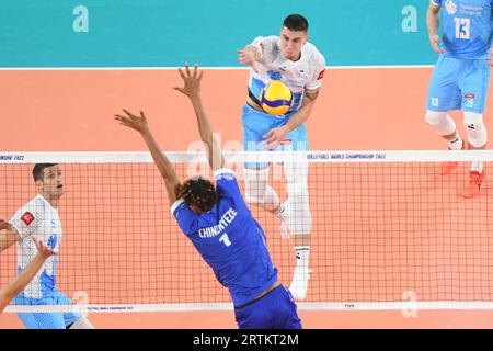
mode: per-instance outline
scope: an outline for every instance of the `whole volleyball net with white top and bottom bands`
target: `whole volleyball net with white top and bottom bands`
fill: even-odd
[[[181,180],[211,178],[204,154],[167,156]],[[300,309],[493,308],[492,151],[230,152],[226,159],[242,191],[243,162],[271,162],[270,184],[282,201],[287,165],[309,168],[312,273]],[[480,196],[463,199],[473,160],[485,162],[486,179]],[[459,166],[437,176],[445,161]],[[227,288],[171,216],[148,152],[2,152],[1,218],[36,196],[32,169],[43,162],[64,172],[56,276],[76,305],[7,312],[232,308]],[[250,208],[289,286],[294,239],[282,238],[272,214]],[[16,274],[15,247],[0,253],[0,287]]]

